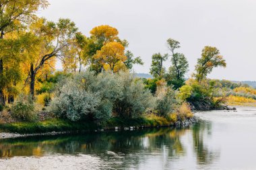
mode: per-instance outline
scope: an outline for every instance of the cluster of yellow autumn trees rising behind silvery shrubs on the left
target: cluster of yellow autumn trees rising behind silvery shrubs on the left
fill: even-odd
[[[70,19],[51,22],[36,15],[48,5],[46,0],[0,1],[0,105],[21,91],[34,98],[40,81],[55,71],[57,58],[69,73],[84,67],[115,73],[143,65],[116,28],[98,26],[86,37]]]

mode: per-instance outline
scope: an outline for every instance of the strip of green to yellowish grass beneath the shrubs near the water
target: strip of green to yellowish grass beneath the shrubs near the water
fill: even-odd
[[[92,122],[71,122],[61,119],[49,119],[42,122],[15,122],[9,124],[0,124],[0,130],[3,132],[17,132],[20,134],[33,134],[33,133],[44,133],[44,132],[65,132],[65,131],[92,131],[97,129],[111,129],[118,126],[119,128],[129,126],[145,126],[145,127],[156,127],[156,126],[171,126],[173,123],[160,116],[150,114],[147,116],[141,116],[133,119],[121,119],[111,118],[103,124],[98,126]]]

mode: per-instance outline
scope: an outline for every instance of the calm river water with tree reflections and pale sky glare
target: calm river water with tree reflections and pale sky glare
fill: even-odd
[[[187,128],[0,140],[0,169],[256,169],[256,108]]]

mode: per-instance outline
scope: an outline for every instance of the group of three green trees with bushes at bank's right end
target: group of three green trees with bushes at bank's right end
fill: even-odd
[[[197,59],[193,75],[186,81],[185,75],[189,71],[189,62],[184,54],[176,52],[181,48],[180,42],[169,38],[167,45],[170,54],[156,53],[152,55],[150,73],[154,79],[145,80],[146,87],[152,93],[156,93],[159,82],[166,81],[167,85],[179,91],[177,97],[181,101],[190,103],[191,108],[210,110],[220,107],[228,92],[223,88],[217,88],[217,81],[207,79],[207,75],[212,73],[214,68],[226,67],[226,61],[220,55],[220,51],[216,47],[205,46],[201,57]],[[168,60],[171,65],[166,71],[163,62]]]

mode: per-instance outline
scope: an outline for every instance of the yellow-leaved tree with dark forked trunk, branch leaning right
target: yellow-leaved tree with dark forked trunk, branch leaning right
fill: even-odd
[[[34,97],[36,76],[46,65],[53,67],[51,62],[61,56],[61,50],[70,45],[77,28],[70,19],[59,19],[59,22],[54,23],[41,18],[30,26],[30,32],[36,39],[33,49],[27,53],[30,95]]]

